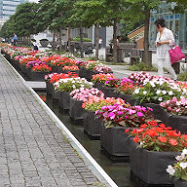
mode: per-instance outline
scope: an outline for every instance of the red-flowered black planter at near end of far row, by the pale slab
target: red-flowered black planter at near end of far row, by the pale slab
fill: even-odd
[[[45,64],[40,64],[32,67],[31,78],[33,81],[44,81],[45,75],[49,74],[51,67]]]

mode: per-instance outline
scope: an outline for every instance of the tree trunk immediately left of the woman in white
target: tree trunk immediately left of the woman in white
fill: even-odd
[[[151,59],[149,55],[149,21],[150,21],[150,9],[146,11],[145,30],[144,30],[144,62],[147,65],[151,64]]]

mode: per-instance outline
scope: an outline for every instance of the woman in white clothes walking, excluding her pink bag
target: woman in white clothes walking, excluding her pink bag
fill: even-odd
[[[159,76],[163,76],[163,67],[165,66],[168,72],[172,75],[172,78],[177,80],[177,75],[171,66],[168,52],[171,49],[170,46],[173,46],[175,42],[173,32],[166,28],[164,19],[156,20],[155,28],[158,31],[156,38],[158,74]]]

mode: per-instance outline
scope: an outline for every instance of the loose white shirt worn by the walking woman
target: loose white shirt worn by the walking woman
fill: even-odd
[[[157,33],[156,43],[162,41],[169,41],[169,44],[164,44],[157,47],[157,59],[165,59],[169,58],[168,50],[170,50],[170,46],[173,45],[175,39],[173,36],[173,32],[167,28],[164,28],[162,36],[160,37],[160,32]]]

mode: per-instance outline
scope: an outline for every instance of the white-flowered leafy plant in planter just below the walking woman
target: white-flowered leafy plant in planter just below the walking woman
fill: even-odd
[[[154,117],[156,119],[162,118],[160,115],[163,114],[163,109],[159,103],[170,100],[173,97],[179,99],[181,95],[182,91],[179,86],[173,80],[164,77],[146,79],[143,86],[133,92],[134,99],[154,109]]]

